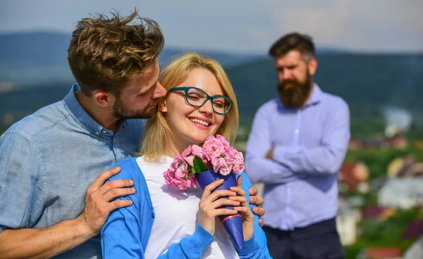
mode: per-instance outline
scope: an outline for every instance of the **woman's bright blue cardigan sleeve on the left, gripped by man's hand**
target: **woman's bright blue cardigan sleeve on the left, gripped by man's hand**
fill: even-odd
[[[119,164],[118,164],[119,166]],[[135,194],[123,196],[120,199],[130,199],[133,205],[114,210],[102,228],[101,242],[103,257],[106,258],[145,258],[145,250],[151,232],[153,217],[146,215],[149,202],[145,198],[145,179],[142,172],[135,173],[135,168],[121,165],[121,172],[113,179],[133,179]],[[140,177],[137,177],[140,176]],[[200,225],[194,234],[181,239],[178,244],[169,246],[168,251],[159,258],[200,258],[204,250],[212,244],[215,237]]]

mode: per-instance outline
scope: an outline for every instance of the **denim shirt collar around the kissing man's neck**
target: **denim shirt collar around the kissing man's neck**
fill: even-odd
[[[81,125],[85,130],[99,137],[111,137],[114,133],[107,130],[102,125],[99,125],[91,116],[82,108],[78,99],[76,99],[75,92],[80,89],[79,84],[73,84],[71,91],[63,99],[63,103],[71,114],[71,116]],[[125,121],[121,123],[121,127],[125,125]]]

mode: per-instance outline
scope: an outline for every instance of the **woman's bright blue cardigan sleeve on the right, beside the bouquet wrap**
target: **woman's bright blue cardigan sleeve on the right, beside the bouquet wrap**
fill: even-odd
[[[250,203],[250,187],[252,186],[250,179],[248,179],[245,172],[237,175],[243,177],[243,190],[245,191],[245,198],[247,198],[250,210],[255,206]],[[236,246],[235,246],[236,249]],[[254,235],[245,241],[245,248],[238,250],[238,255],[240,259],[246,258],[271,258],[269,254],[269,249],[267,248],[266,235],[262,227],[259,225],[259,216],[254,215]]]

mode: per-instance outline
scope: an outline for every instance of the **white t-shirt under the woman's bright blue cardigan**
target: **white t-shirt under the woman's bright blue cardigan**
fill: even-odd
[[[168,170],[172,161],[173,158],[168,156],[162,156],[158,163],[147,163],[143,157],[137,158],[137,164],[147,181],[156,215],[145,258],[159,257],[171,244],[191,236],[197,226],[202,189],[197,185],[197,188],[180,191],[168,186],[164,182],[163,172]],[[239,258],[218,218],[214,235],[216,239],[204,251],[202,258]]]

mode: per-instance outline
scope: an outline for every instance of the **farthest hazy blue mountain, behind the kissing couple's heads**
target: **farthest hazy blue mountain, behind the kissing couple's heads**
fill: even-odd
[[[0,34],[0,82],[19,84],[49,83],[52,80],[73,81],[68,66],[67,51],[71,34],[56,32],[25,32]],[[165,64],[171,56],[186,51],[197,51],[215,58],[225,67],[258,58],[218,51],[176,49],[165,46],[159,62]]]

